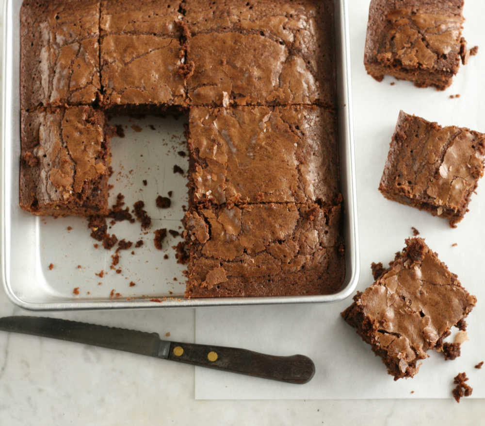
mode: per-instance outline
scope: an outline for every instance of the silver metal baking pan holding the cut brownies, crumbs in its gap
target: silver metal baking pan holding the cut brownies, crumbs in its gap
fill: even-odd
[[[145,245],[137,249],[135,255],[131,255],[129,251],[122,252],[120,265],[117,266],[122,272],[115,273],[110,269],[113,251],[93,247],[96,241],[89,237],[86,219],[36,217],[22,211],[18,206],[18,34],[21,3],[22,0],[4,0],[2,5],[0,267],[3,286],[12,302],[32,310],[262,305],[336,302],[355,290],[359,274],[359,250],[346,0],[335,1],[340,168],[346,244],[346,278],[342,290],[335,294],[318,296],[210,299],[185,299],[183,267],[175,262],[171,247],[167,246],[164,252],[154,249],[151,232],[147,235],[141,234]],[[114,119],[115,122],[116,120],[118,119]],[[182,205],[186,204],[187,193],[184,178],[175,175],[172,168],[174,164],[178,164],[187,170],[184,163],[186,159],[177,155],[177,150],[183,148],[183,120],[150,117],[141,121],[130,118],[119,120],[128,124],[128,127],[125,129],[125,138],[113,138],[112,141],[115,147],[115,175],[110,181],[114,184],[112,194],[117,194],[118,190],[123,192],[127,197],[127,205],[131,205],[138,199],[151,200],[153,203],[157,194],[166,194],[168,190],[173,190],[173,208],[166,210],[164,214],[156,207],[153,209],[155,211],[148,212],[154,222],[152,229],[179,229],[180,218],[183,216]],[[133,140],[136,144],[132,143]],[[177,142],[181,148],[177,148]],[[124,169],[117,166],[121,162]],[[133,165],[131,168],[130,163]],[[158,176],[163,178],[158,179]],[[143,179],[148,181],[146,186],[142,184]],[[123,223],[125,222],[114,225],[110,232],[117,234],[118,238],[131,241],[140,238],[138,224],[122,225]],[[72,230],[68,231],[67,227],[72,227]],[[177,239],[172,238],[169,241],[170,246],[176,243]],[[164,254],[169,256],[168,260],[162,259]],[[49,269],[50,263],[53,264],[52,269]],[[96,275],[101,270],[105,272],[102,278]],[[135,286],[130,287],[130,282],[135,283]],[[74,294],[75,288],[79,294]]]

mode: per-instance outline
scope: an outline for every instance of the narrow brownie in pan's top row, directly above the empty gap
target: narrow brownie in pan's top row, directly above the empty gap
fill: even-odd
[[[103,1],[101,83],[103,105],[181,105],[185,51],[181,15],[171,1]]]

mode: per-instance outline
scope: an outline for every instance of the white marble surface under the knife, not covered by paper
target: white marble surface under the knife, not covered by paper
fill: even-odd
[[[351,6],[361,9],[361,1],[351,0]],[[0,292],[0,315],[12,314],[29,313],[14,307]],[[192,309],[54,316],[162,335],[169,331],[173,339],[194,340]],[[255,379],[254,386],[258,383]],[[408,425],[410,418],[416,419],[412,424],[422,425],[484,425],[484,414],[483,400],[466,399],[459,405],[450,400],[196,401],[192,367],[0,333],[2,426]]]

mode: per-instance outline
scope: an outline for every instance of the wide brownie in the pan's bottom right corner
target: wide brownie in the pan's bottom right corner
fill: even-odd
[[[340,207],[252,204],[185,215],[187,297],[329,294],[345,276]]]

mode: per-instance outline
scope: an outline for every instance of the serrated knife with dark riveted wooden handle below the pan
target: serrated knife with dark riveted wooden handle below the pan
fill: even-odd
[[[0,330],[74,341],[287,383],[307,383],[315,374],[315,364],[304,355],[276,357],[247,349],[166,341],[160,339],[158,333],[57,318],[3,317],[0,318]]]

